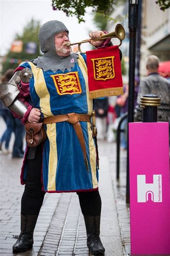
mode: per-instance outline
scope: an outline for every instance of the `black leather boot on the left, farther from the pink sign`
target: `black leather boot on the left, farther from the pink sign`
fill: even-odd
[[[25,252],[33,247],[33,232],[36,226],[38,215],[21,214],[21,233],[16,243],[13,245],[13,252]]]

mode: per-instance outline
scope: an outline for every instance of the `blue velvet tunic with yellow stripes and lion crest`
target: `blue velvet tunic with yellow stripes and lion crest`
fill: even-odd
[[[44,72],[32,62],[28,67],[33,72],[30,79],[30,96],[34,108],[41,109],[43,117],[67,113],[91,114],[93,101],[89,100],[88,76],[85,55],[70,72]],[[68,122],[45,125],[47,140],[43,144],[42,180],[43,190],[73,192],[98,189],[96,149],[89,122],[80,122],[84,134],[89,172],[86,170],[80,142],[74,127]],[[24,165],[26,177],[27,164]]]

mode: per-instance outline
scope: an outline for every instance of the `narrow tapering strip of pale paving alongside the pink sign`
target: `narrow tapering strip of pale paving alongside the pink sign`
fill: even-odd
[[[113,154],[110,154],[110,151]],[[131,235],[130,235],[130,210],[126,203],[126,160],[127,152],[120,152],[120,174],[119,180],[116,179],[116,144],[103,142],[100,153],[108,156],[109,171],[112,179],[112,185],[115,197],[115,207],[119,221],[119,228],[122,237],[124,255],[131,255]]]

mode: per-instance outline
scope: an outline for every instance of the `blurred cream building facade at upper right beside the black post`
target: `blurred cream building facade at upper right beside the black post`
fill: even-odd
[[[142,0],[141,75],[146,75],[146,58],[154,54],[170,60],[170,9],[160,10],[155,1]]]

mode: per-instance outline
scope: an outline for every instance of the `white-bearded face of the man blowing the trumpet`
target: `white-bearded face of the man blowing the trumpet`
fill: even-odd
[[[71,46],[68,46],[68,44],[70,44],[70,41],[66,31],[55,35],[56,53],[59,56],[67,57],[71,54]]]

